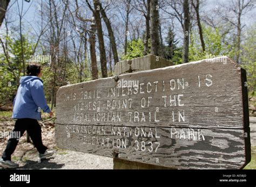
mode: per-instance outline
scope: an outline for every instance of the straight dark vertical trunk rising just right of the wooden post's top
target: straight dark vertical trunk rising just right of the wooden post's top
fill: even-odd
[[[190,10],[188,5],[188,0],[183,2],[183,12],[184,12],[184,39],[183,39],[183,63],[188,62],[188,46],[190,43]]]

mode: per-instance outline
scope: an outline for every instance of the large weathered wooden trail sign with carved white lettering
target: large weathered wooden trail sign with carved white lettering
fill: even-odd
[[[58,147],[180,169],[251,160],[245,70],[228,57],[61,87]]]

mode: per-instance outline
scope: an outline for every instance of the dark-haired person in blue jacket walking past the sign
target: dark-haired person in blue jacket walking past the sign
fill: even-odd
[[[29,134],[33,144],[39,152],[41,160],[53,155],[53,150],[43,145],[41,126],[37,120],[41,120],[41,110],[50,114],[53,113],[47,105],[43,81],[41,80],[42,68],[39,64],[29,64],[26,68],[27,76],[21,77],[17,95],[14,99],[14,109],[12,118],[17,119],[14,130],[9,135],[6,148],[0,159],[0,167],[17,168],[18,164],[11,161],[11,155],[14,153],[19,139],[25,131]]]

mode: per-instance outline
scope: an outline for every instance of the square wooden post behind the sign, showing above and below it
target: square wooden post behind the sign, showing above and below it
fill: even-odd
[[[116,63],[114,66],[114,75],[122,75],[136,71],[150,70],[173,66],[174,63],[155,55],[146,55],[132,60],[124,60]],[[127,161],[119,158],[113,158],[113,169],[173,169],[152,164]]]

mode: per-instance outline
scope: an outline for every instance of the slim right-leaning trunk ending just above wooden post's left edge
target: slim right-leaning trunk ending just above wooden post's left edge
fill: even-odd
[[[112,52],[113,52],[113,57],[114,57],[114,64],[116,64],[119,60],[118,60],[118,54],[117,54],[116,40],[114,39],[114,33],[112,30],[112,26],[111,26],[109,18],[107,18],[107,16],[106,16],[105,10],[102,8],[102,4],[99,3],[99,5],[100,5],[100,13],[102,13],[102,18],[107,27],[107,32],[109,32],[109,39],[111,42],[111,47],[112,47]]]

